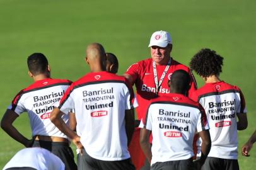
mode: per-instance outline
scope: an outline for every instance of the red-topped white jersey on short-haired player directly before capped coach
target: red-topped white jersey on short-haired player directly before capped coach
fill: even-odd
[[[199,103],[182,94],[170,93],[151,99],[144,128],[153,135],[152,165],[193,157],[194,134],[209,129],[209,125]]]

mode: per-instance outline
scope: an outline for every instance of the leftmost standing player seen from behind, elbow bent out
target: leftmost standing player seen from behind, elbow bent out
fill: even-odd
[[[13,139],[25,147],[43,147],[60,157],[66,169],[77,169],[74,154],[67,136],[50,122],[50,112],[59,101],[71,81],[51,79],[50,66],[44,54],[35,53],[28,57],[28,74],[35,81],[18,93],[4,113],[1,127]],[[32,139],[26,139],[14,126],[16,118],[27,112],[32,128]],[[69,115],[62,116],[69,123]]]

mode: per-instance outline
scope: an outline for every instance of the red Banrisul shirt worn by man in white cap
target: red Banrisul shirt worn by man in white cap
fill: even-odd
[[[166,65],[156,65],[156,72],[158,75],[158,81],[161,79],[161,75],[163,71],[165,71]],[[170,67],[166,72],[166,76],[161,83],[158,96],[163,96],[166,93],[170,93],[170,89],[168,87],[168,80],[172,76],[174,71],[182,69],[184,71],[189,72],[191,77],[191,86],[189,90],[189,95],[192,91],[197,89],[196,82],[192,72],[190,72],[189,67],[180,64],[179,62],[172,59]],[[156,85],[154,82],[154,73],[153,73],[153,60],[146,59],[137,62],[136,64],[132,64],[125,74],[130,74],[132,78],[135,80],[136,90],[137,90],[137,101],[139,106],[136,108],[138,119],[144,118],[146,115],[146,108],[148,108],[149,100],[156,98]],[[132,84],[133,85],[133,84]]]

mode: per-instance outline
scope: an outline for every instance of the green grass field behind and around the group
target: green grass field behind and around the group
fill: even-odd
[[[256,1],[50,1],[0,0],[0,116],[20,89],[33,81],[26,58],[44,53],[52,77],[75,81],[88,72],[86,45],[100,42],[117,55],[119,74],[138,60],[150,57],[148,43],[156,30],[169,31],[172,56],[188,65],[203,47],[224,56],[221,79],[239,86],[247,101],[248,128],[238,132],[240,169],[255,169],[256,146],[250,157],[241,146],[256,129]],[[196,76],[199,87],[201,79]],[[26,114],[15,126],[30,137]],[[0,168],[23,145],[0,130]]]

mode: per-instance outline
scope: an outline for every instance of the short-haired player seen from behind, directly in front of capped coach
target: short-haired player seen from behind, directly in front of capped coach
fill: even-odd
[[[211,149],[206,113],[199,103],[187,97],[190,76],[183,70],[173,72],[170,94],[151,99],[146,117],[141,123],[141,148],[151,169],[201,169]],[[202,138],[202,157],[192,162],[193,138]],[[152,132],[152,147],[149,134]]]

